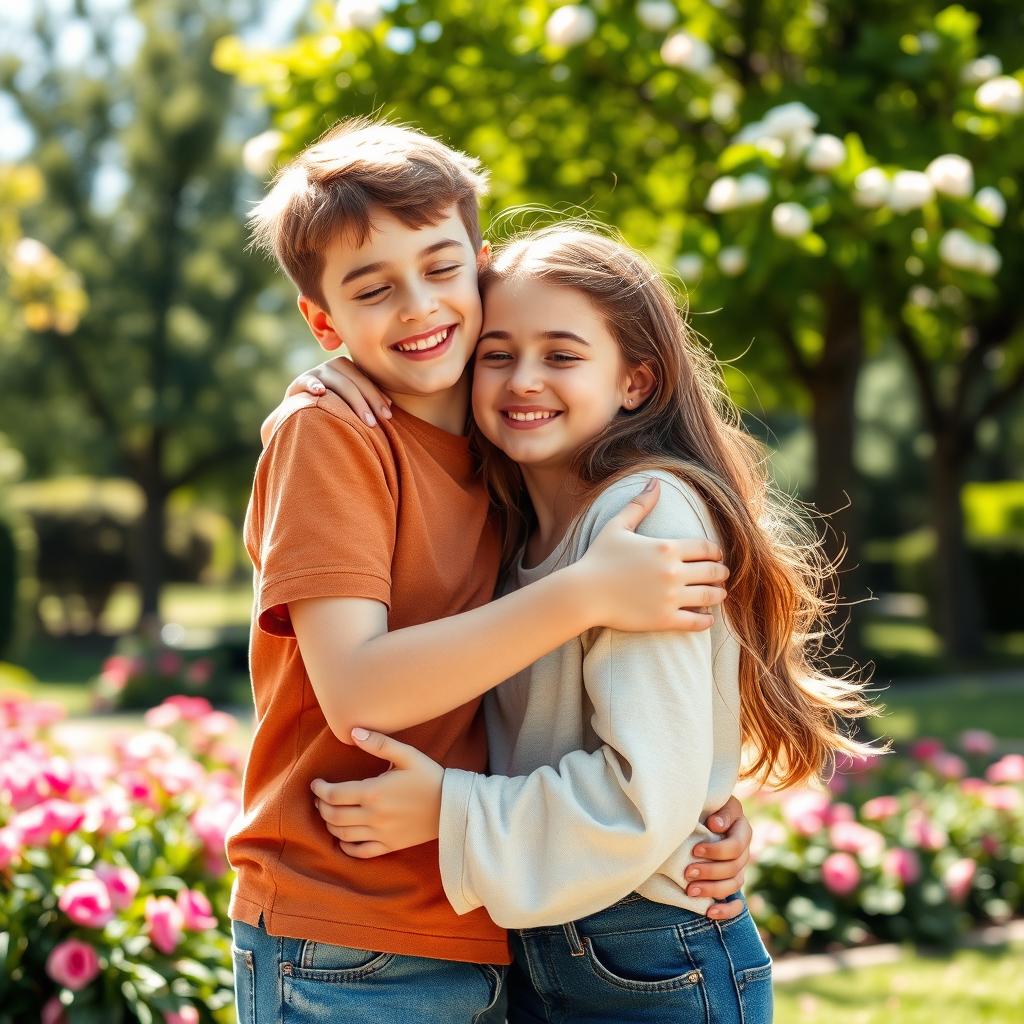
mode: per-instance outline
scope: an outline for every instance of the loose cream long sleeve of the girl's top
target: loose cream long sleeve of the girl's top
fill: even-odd
[[[708,536],[699,500],[663,481],[641,531]],[[598,499],[581,551],[643,482]],[[516,778],[445,771],[441,878],[459,913],[484,906],[506,928],[594,913],[649,879],[699,821],[714,751],[710,633],[601,629],[584,649],[597,750]]]

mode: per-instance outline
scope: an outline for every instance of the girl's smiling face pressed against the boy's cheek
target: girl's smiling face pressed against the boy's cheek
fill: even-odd
[[[510,459],[567,466],[633,395],[618,343],[582,292],[529,280],[487,288],[473,416]]]

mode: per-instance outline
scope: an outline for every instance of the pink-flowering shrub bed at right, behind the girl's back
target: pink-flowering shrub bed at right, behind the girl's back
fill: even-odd
[[[948,943],[1024,908],[1024,756],[986,732],[847,763],[829,790],[752,800],[751,910],[776,950]]]

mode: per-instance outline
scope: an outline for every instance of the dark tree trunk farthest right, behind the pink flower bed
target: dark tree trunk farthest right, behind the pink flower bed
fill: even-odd
[[[968,550],[962,493],[964,445],[950,429],[935,438],[932,505],[935,524],[935,628],[946,653],[957,660],[983,650],[978,585]]]

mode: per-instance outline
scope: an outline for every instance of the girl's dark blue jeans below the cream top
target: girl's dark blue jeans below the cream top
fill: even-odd
[[[716,922],[632,893],[511,935],[508,1024],[770,1024],[771,958],[750,911]]]

